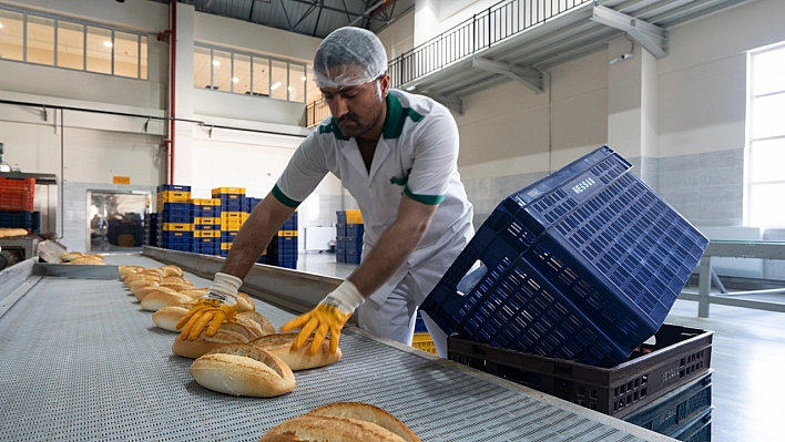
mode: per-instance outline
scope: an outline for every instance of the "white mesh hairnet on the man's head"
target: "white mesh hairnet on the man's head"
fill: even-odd
[[[314,55],[314,82],[318,88],[356,86],[387,71],[387,52],[373,32],[340,28],[330,32]]]

